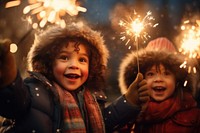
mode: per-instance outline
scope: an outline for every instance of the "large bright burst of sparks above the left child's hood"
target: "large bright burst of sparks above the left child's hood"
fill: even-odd
[[[10,1],[6,3],[6,8],[18,6],[20,0]],[[76,16],[79,12],[86,12],[87,9],[78,5],[76,0],[28,0],[29,5],[23,9],[24,14],[28,14],[27,21],[32,24],[34,29],[43,28],[47,23],[59,24],[65,26],[62,17],[67,14]],[[32,21],[31,15],[35,15],[38,23]]]

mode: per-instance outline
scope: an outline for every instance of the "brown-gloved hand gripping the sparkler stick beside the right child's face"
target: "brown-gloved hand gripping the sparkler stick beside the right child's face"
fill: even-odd
[[[125,94],[127,101],[138,106],[142,106],[144,103],[148,102],[149,90],[147,89],[146,84],[143,75],[138,73],[136,79],[129,86]]]

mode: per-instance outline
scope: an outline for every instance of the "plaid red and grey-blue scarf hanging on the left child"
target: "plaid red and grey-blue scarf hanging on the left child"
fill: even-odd
[[[86,110],[86,123],[89,123],[89,128],[86,129],[83,116],[80,108],[68,91],[64,92],[64,132],[66,133],[86,133],[90,130],[92,133],[104,133],[102,114],[96,99],[91,95],[88,89],[83,93],[84,107]]]

